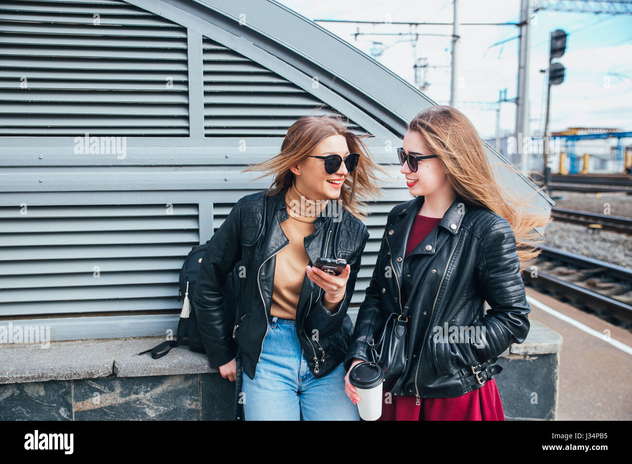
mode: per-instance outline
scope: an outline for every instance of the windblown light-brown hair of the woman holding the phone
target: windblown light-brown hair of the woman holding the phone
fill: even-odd
[[[343,208],[362,220],[368,215],[361,208],[361,206],[367,204],[365,199],[367,197],[377,199],[382,194],[382,189],[377,186],[376,181],[379,179],[375,176],[374,171],[378,170],[383,174],[388,174],[379,164],[372,160],[372,155],[362,141],[362,138],[370,137],[371,135],[356,135],[349,131],[344,126],[341,117],[301,117],[288,129],[288,133],[281,144],[281,153],[267,161],[250,165],[243,172],[265,172],[265,174],[260,175],[256,179],[274,174],[272,186],[266,193],[272,196],[284,189],[284,187],[291,187],[294,184],[296,175],[289,168],[312,155],[316,145],[332,135],[341,135],[346,139],[349,153],[360,153],[358,166],[353,172],[349,173],[347,180],[341,187],[339,199]]]

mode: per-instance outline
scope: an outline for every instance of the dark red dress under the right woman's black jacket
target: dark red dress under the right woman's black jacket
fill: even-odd
[[[406,244],[406,255],[434,230],[441,218],[417,215]],[[404,295],[405,297],[405,292]],[[403,299],[404,299],[403,297]],[[382,417],[378,420],[505,420],[501,396],[494,379],[489,379],[481,388],[452,398],[421,398],[416,405],[416,396],[384,395]]]

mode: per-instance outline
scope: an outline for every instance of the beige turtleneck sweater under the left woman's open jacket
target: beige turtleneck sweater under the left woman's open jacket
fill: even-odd
[[[292,202],[293,200],[295,201]],[[301,193],[293,185],[286,192],[285,203],[289,218],[281,222],[281,229],[288,237],[289,244],[276,254],[270,315],[283,319],[296,319],[296,306],[298,306],[303,280],[309,278],[305,267],[309,265],[310,258],[305,251],[303,239],[315,231],[313,222],[327,202],[304,198],[305,211],[301,211]],[[336,312],[342,301],[331,303],[325,299],[324,292],[321,298],[322,305],[331,312]]]

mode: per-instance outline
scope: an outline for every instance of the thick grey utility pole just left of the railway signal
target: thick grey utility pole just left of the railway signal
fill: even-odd
[[[516,97],[516,144],[523,146],[529,130],[529,27],[532,8],[530,0],[520,0],[520,36],[518,51],[518,95]],[[528,140],[528,139],[527,139]],[[521,170],[527,174],[529,154],[520,150]],[[528,150],[526,150],[528,151]]]

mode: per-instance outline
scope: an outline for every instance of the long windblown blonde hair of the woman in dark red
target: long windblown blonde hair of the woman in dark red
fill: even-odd
[[[542,235],[533,230],[551,222],[548,215],[530,213],[534,196],[509,191],[498,182],[492,172],[483,142],[470,120],[458,109],[447,105],[435,105],[419,112],[408,124],[409,131],[422,134],[428,148],[438,155],[441,167],[446,171],[454,191],[465,201],[483,206],[505,218],[516,237],[516,251],[520,270],[538,256],[541,250],[535,244]],[[499,167],[520,173],[513,166],[494,163]]]

